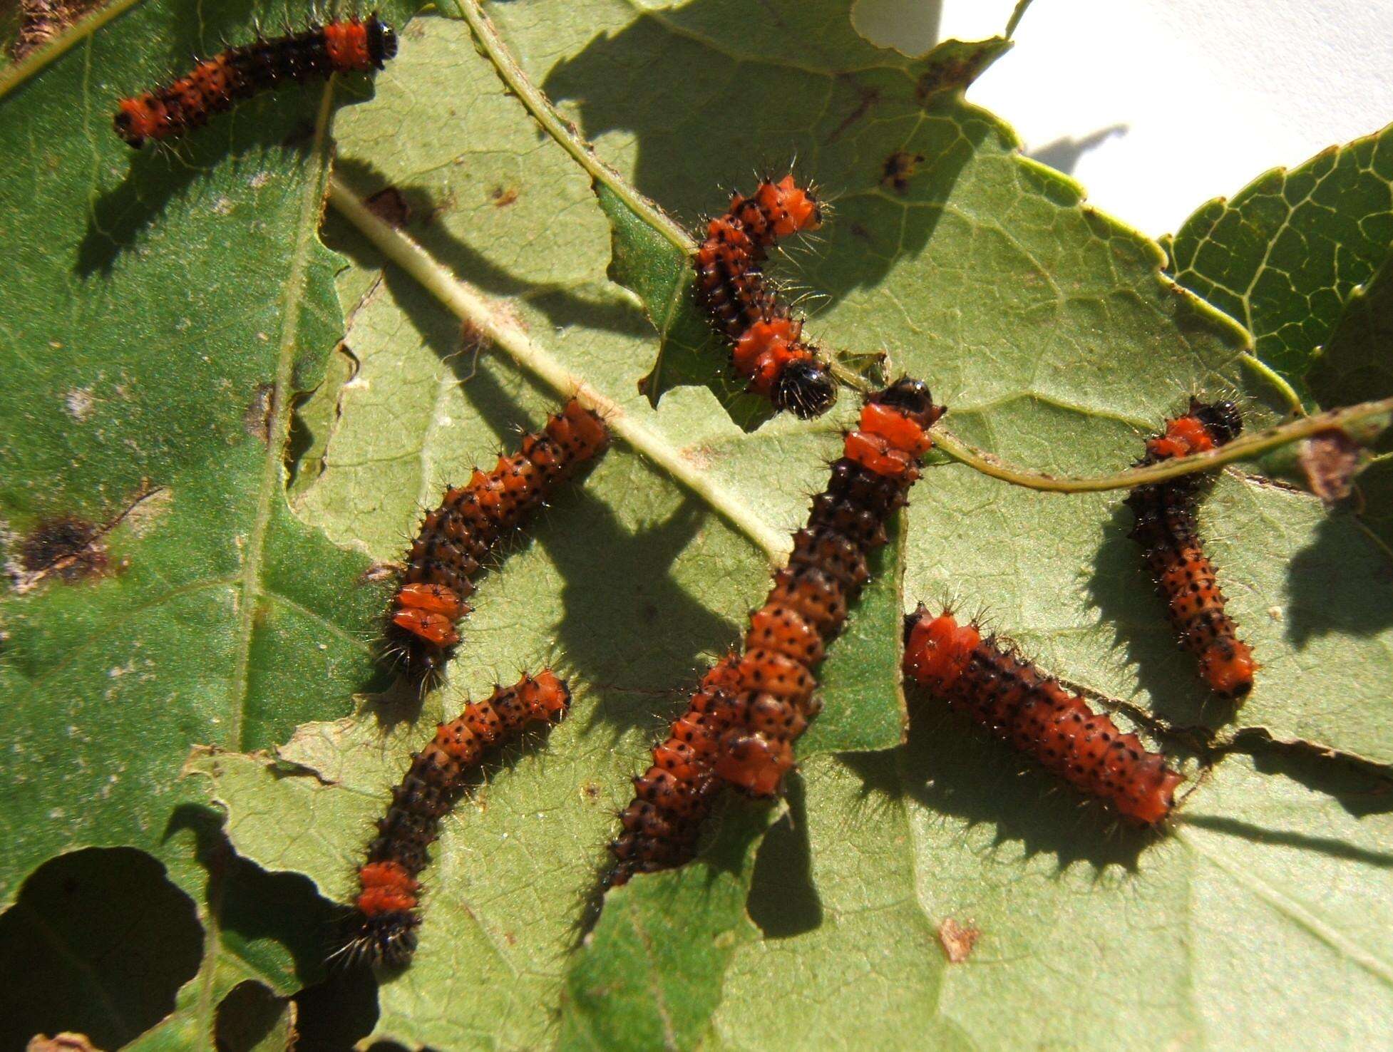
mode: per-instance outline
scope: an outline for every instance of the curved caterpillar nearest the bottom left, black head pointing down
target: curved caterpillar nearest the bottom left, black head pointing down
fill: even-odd
[[[497,687],[486,699],[465,705],[451,723],[436,726],[435,738],[411,758],[391,807],[378,822],[368,861],[358,869],[357,932],[341,950],[347,963],[366,960],[400,968],[417,949],[417,913],[426,849],[436,826],[464,789],[465,776],[483,751],[515,738],[531,722],[556,723],[566,715],[571,693],[550,669]]]

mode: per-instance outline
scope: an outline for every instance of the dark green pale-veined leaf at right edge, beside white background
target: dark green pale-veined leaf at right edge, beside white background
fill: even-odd
[[[1393,244],[1393,128],[1273,169],[1176,233],[1176,280],[1243,322],[1254,353],[1308,399],[1346,300]]]

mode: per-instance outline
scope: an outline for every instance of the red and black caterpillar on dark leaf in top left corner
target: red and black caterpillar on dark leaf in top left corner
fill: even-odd
[[[396,32],[375,14],[312,25],[274,40],[228,47],[173,84],[121,99],[113,125],[138,149],[146,141],[173,139],[202,127],[215,113],[263,91],[334,72],[380,70],[396,54]]]

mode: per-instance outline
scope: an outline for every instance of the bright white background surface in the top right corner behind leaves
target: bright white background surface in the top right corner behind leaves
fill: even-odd
[[[997,35],[1014,0],[858,0],[908,54]],[[1172,233],[1275,166],[1393,123],[1393,0],[1035,0],[968,89],[1092,203]]]

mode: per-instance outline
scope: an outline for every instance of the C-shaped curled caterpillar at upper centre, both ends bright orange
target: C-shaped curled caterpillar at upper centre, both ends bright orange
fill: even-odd
[[[751,196],[733,194],[730,208],[706,226],[696,248],[696,302],[733,346],[736,372],[775,408],[820,417],[837,400],[827,362],[802,340],[802,322],[779,301],[759,269],[769,248],[800,230],[816,230],[822,209],[794,184],[761,183]]]

